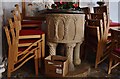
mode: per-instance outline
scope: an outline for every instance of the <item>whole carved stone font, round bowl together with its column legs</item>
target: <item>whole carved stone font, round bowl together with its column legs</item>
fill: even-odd
[[[57,44],[64,43],[70,71],[74,71],[74,64],[81,64],[80,45],[84,40],[84,17],[84,14],[61,13],[46,16],[49,53],[56,55]]]

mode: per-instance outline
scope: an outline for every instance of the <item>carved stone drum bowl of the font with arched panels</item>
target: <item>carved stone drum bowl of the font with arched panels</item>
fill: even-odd
[[[75,43],[84,39],[84,14],[47,14],[48,41]]]

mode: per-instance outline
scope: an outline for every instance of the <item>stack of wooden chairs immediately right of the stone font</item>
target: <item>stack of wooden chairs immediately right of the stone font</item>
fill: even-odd
[[[87,17],[85,44],[86,47],[91,47],[93,52],[96,52],[95,68],[97,68],[110,52],[108,50],[110,46],[107,45],[109,31],[107,6],[94,7],[94,13],[89,13]]]

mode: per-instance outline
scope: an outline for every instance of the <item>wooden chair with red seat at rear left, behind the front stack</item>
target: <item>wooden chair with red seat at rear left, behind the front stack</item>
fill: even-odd
[[[29,19],[23,19],[22,13],[20,12],[19,5],[15,5],[15,9],[13,12],[13,15],[17,16],[17,19],[21,21],[22,27],[23,28],[37,28],[41,29],[42,21],[41,20],[29,20]]]

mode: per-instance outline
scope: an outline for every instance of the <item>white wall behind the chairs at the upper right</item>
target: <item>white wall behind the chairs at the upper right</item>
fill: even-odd
[[[97,6],[96,2],[99,0],[80,0],[80,7],[86,7],[89,6],[92,11],[93,6]],[[109,13],[110,13],[110,19],[114,22],[120,22],[120,0],[104,0],[109,1]],[[118,6],[119,2],[119,6]]]

